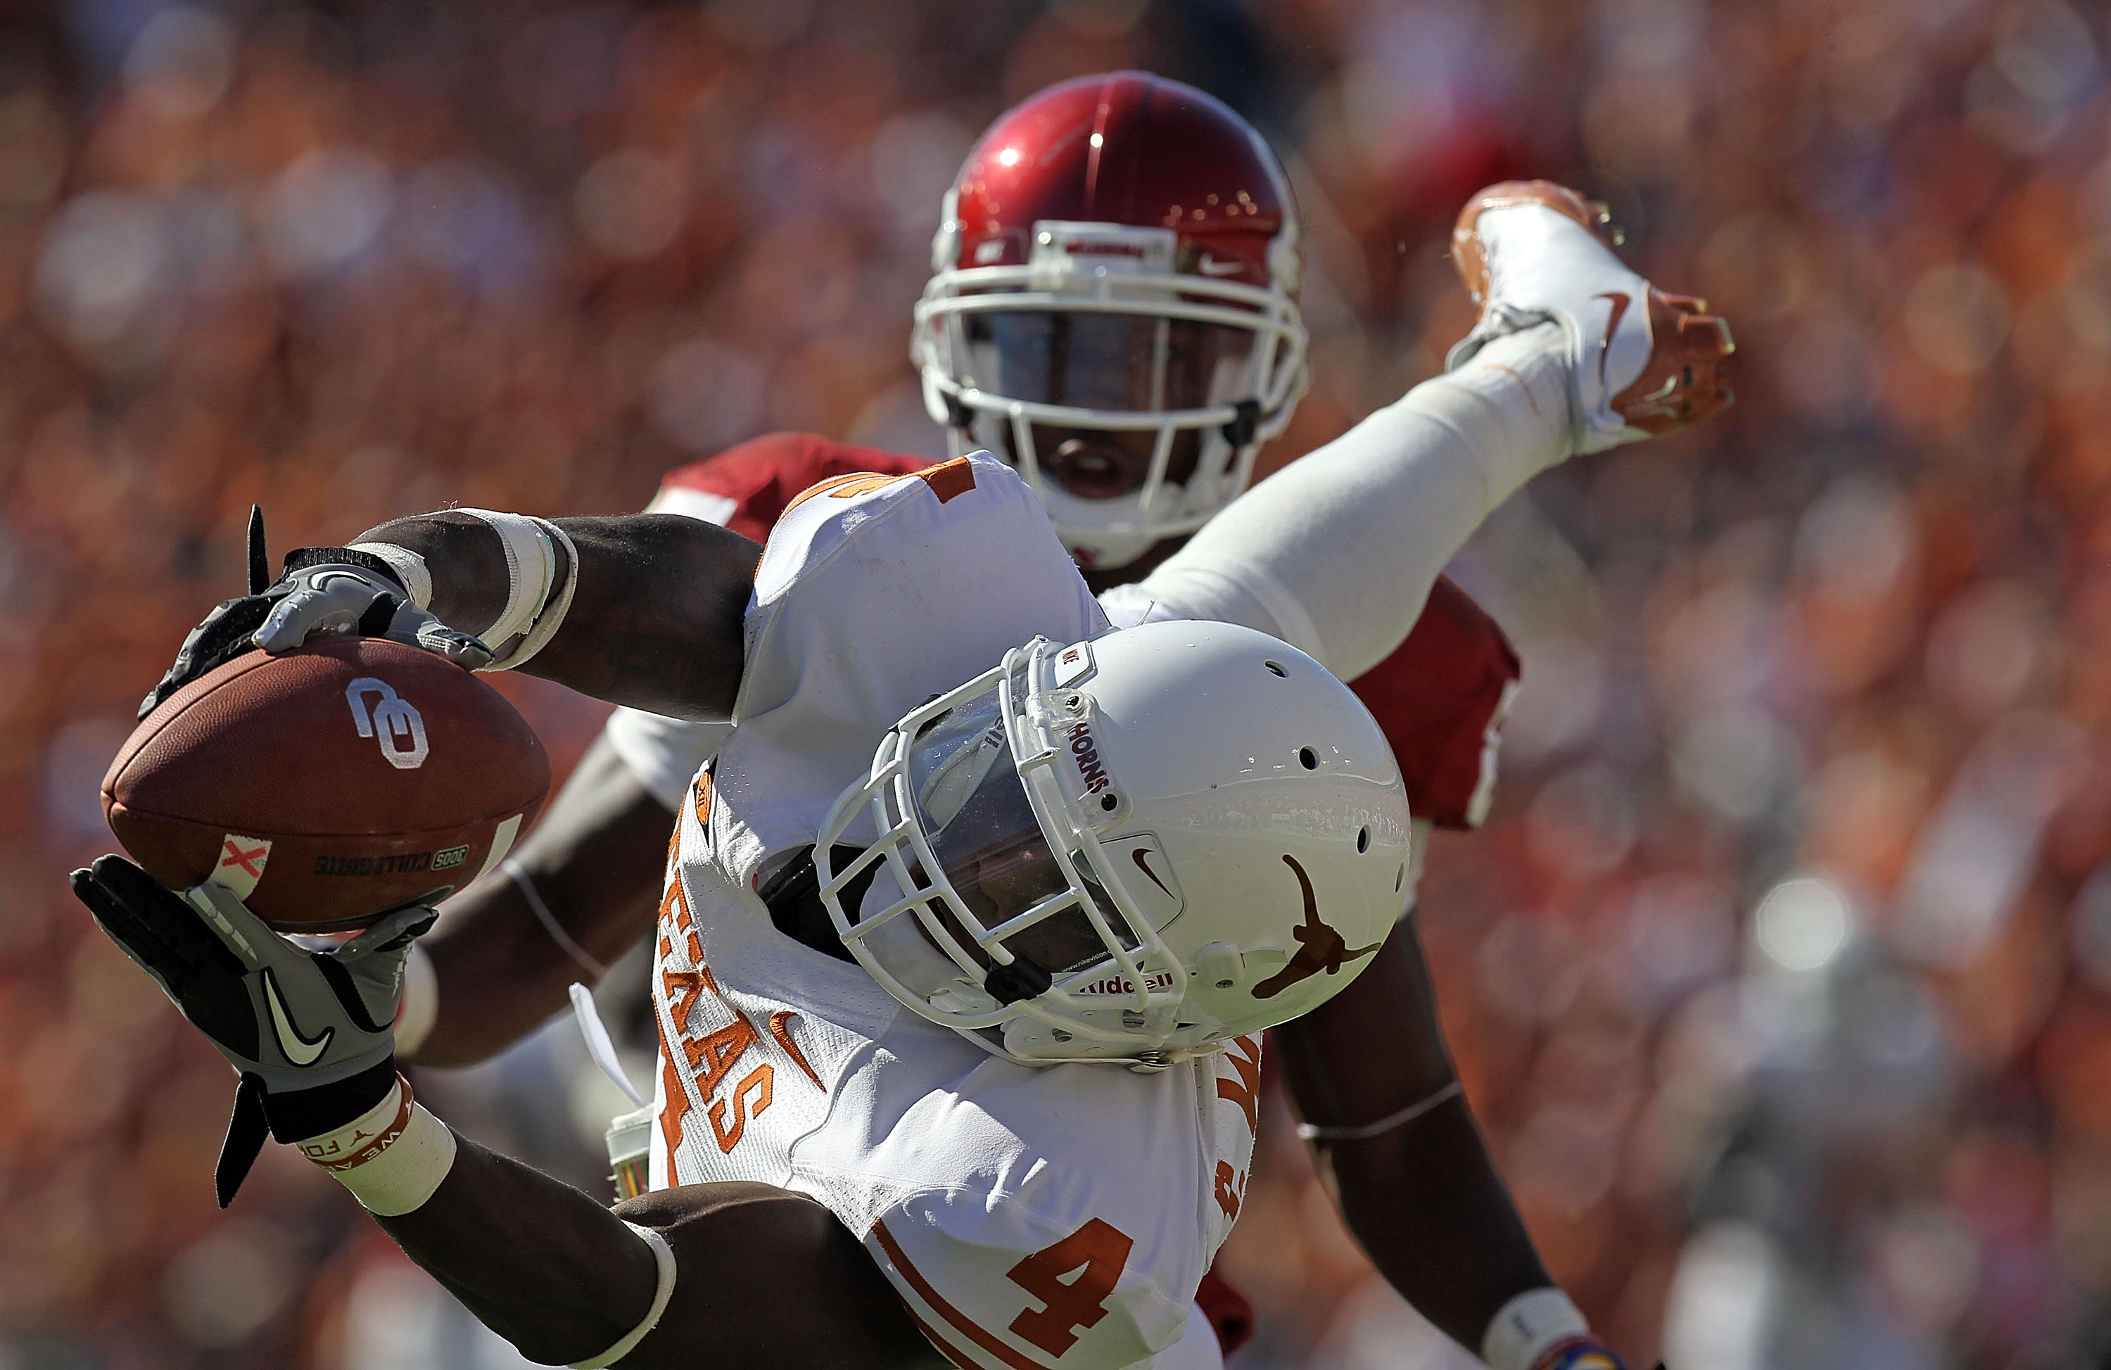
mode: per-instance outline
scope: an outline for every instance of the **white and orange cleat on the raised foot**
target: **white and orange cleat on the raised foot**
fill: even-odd
[[[1729,323],[1706,300],[1666,296],[1634,274],[1613,253],[1604,217],[1602,205],[1554,182],[1503,182],[1467,201],[1452,228],[1452,262],[1480,321],[1446,369],[1554,319],[1568,336],[1577,452],[1659,437],[1731,403]]]

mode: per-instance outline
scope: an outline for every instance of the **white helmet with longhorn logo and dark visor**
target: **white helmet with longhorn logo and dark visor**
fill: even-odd
[[[838,842],[863,846],[836,861]],[[1013,648],[912,709],[815,842],[889,994],[1009,1060],[1159,1066],[1319,1007],[1400,916],[1408,802],[1362,701],[1226,623]]]

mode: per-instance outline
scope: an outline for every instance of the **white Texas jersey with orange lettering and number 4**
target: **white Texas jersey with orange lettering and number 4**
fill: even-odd
[[[958,1366],[1216,1364],[1193,1298],[1245,1191],[1260,1043],[1150,1074],[1018,1066],[779,933],[756,889],[897,718],[1037,633],[1104,627],[986,454],[817,486],[771,534],[735,728],[676,825],[652,1184],[825,1203]]]

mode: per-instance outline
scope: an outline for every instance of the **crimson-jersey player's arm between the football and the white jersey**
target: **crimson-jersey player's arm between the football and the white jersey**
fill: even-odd
[[[612,965],[652,931],[673,815],[602,735],[557,792],[515,861],[572,941]],[[439,1015],[422,1066],[467,1066],[505,1051],[566,1007],[566,986],[593,979],[559,948],[505,876],[448,901],[418,946],[439,975]]]

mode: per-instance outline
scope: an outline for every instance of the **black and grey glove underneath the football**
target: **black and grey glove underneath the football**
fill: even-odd
[[[72,884],[97,927],[241,1072],[213,1176],[222,1207],[266,1131],[281,1142],[334,1131],[395,1083],[403,960],[433,927],[433,910],[397,910],[331,950],[310,952],[226,887],[207,882],[177,895],[125,857],[99,857],[76,870]]]

